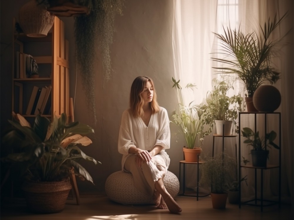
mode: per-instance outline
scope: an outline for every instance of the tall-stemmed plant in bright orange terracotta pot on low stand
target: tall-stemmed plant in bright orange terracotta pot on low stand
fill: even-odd
[[[187,162],[197,162],[197,155],[201,153],[201,146],[196,147],[196,139],[202,143],[203,137],[209,135],[212,132],[212,127],[204,129],[205,121],[202,118],[204,111],[198,111],[197,105],[193,104],[193,101],[185,106],[183,103],[182,87],[180,86],[180,80],[176,81],[172,77],[173,88],[177,90],[179,103],[176,106],[176,110],[173,112],[171,123],[176,125],[179,133],[186,141],[187,147],[183,148],[185,160]],[[193,89],[195,85],[188,84],[186,88]],[[191,155],[191,157],[190,157]]]

